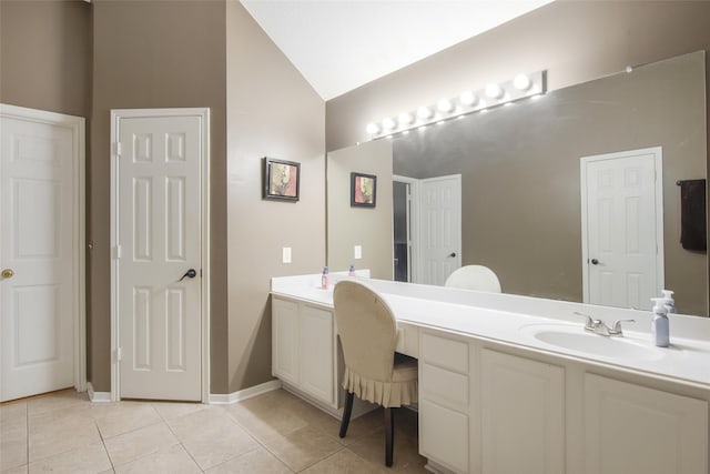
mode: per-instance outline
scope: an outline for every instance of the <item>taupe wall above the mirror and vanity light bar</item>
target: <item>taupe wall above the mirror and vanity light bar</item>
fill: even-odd
[[[328,101],[326,148],[368,140],[365,125],[373,120],[520,71],[547,70],[548,90],[556,90],[629,64],[708,50],[708,24],[707,1],[556,1]],[[707,281],[707,266],[703,273]],[[707,307],[707,294],[703,300]]]

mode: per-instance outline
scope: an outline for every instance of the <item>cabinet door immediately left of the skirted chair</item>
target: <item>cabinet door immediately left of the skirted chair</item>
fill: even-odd
[[[333,313],[302,305],[300,320],[301,389],[332,404],[333,386]]]

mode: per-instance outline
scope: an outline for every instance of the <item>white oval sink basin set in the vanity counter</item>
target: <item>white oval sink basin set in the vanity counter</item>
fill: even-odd
[[[585,331],[582,327],[531,327],[532,336],[547,345],[590,355],[621,359],[661,359],[662,352],[630,337],[609,337]]]

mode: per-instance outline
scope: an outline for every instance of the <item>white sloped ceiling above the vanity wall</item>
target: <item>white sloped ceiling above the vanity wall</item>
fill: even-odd
[[[324,100],[551,0],[240,0]]]

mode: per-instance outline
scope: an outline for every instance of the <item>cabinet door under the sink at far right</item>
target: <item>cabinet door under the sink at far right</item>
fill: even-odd
[[[595,473],[707,473],[708,403],[585,374],[585,464]]]

